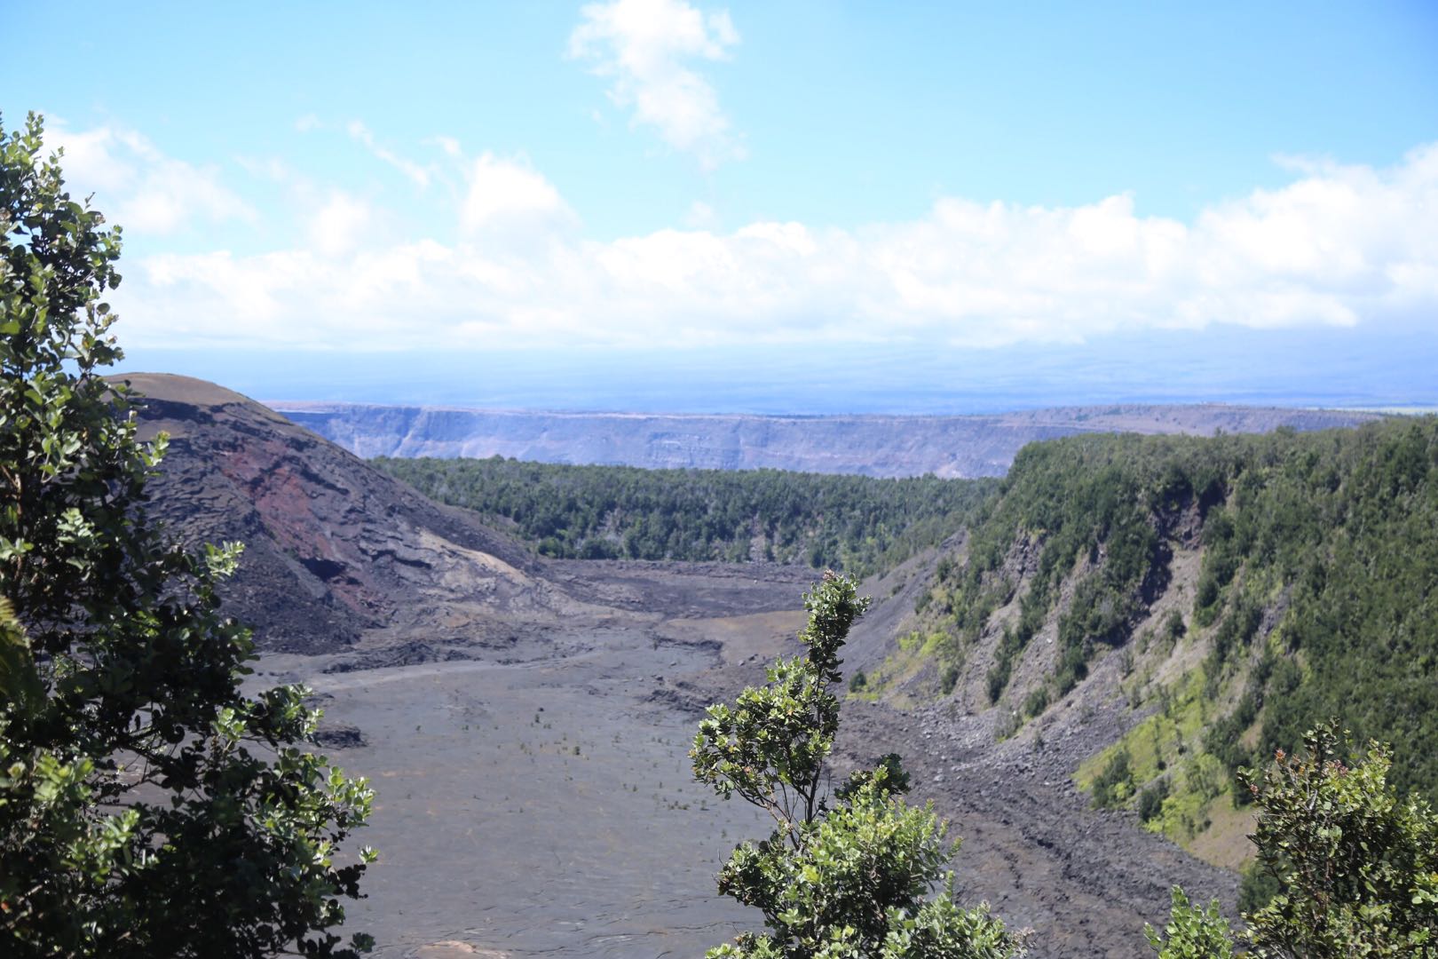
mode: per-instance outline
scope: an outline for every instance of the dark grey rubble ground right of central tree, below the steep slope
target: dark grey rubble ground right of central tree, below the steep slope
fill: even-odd
[[[913,795],[933,799],[951,838],[963,840],[952,863],[959,900],[1032,929],[1031,956],[1152,956],[1143,923],[1163,924],[1173,884],[1199,901],[1237,901],[1235,874],[1143,831],[1130,812],[1090,809],[1074,786],[1074,766],[1132,722],[1122,706],[1060,719],[1043,745],[1032,730],[995,743],[988,716],[847,706],[841,759],[905,758]]]

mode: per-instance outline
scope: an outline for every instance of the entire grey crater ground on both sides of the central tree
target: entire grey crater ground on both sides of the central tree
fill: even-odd
[[[759,924],[715,894],[713,874],[766,820],[693,784],[686,752],[703,705],[795,648],[802,611],[785,607],[802,584],[794,571],[761,582],[677,564],[610,572],[587,598],[633,597],[633,614],[590,607],[513,643],[420,656],[390,638],[263,661],[262,680],[315,687],[325,726],[342,730],[326,748],[377,789],[360,838],[381,857],[348,912],[378,955],[447,942],[479,955],[697,956]],[[1076,705],[1038,748],[1032,729],[995,743],[989,716],[850,700],[835,759],[905,756],[912,798],[933,799],[963,837],[961,900],[1031,927],[1030,955],[1137,958],[1172,883],[1232,903],[1235,877],[1130,815],[1087,809],[1071,769],[1132,720],[1122,703]]]

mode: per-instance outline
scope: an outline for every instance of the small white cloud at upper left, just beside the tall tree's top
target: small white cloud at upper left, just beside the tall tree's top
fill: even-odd
[[[62,165],[70,184],[115,198],[105,206],[109,220],[134,233],[175,233],[196,220],[257,219],[247,203],[221,185],[216,168],[167,157],[135,131],[98,127],[76,132],[52,125],[46,144],[65,148]]]

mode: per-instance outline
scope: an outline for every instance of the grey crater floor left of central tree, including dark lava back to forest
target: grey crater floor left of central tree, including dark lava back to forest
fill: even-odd
[[[581,569],[582,572],[582,569]],[[615,564],[587,605],[512,643],[375,635],[270,654],[256,683],[305,682],[324,748],[377,791],[380,850],[351,930],[381,956],[431,943],[503,956],[697,956],[755,924],[713,876],[766,817],[692,781],[693,684],[758,671],[802,623],[801,585],[732,569]],[[565,571],[557,571],[565,578]],[[485,952],[490,950],[490,952]],[[456,953],[460,955],[460,953]]]

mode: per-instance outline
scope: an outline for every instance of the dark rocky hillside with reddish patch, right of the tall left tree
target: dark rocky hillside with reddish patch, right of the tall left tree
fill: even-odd
[[[187,377],[124,378],[145,397],[141,436],[170,436],[152,512],[194,542],[244,543],[227,608],[265,648],[332,650],[424,620],[446,581],[492,621],[551,600],[526,549],[257,403]],[[433,634],[480,627],[450,618]]]

